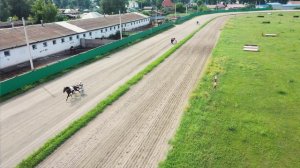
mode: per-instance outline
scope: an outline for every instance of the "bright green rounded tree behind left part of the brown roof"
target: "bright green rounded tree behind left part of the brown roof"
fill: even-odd
[[[45,3],[45,0],[36,0],[32,5],[31,12],[36,22],[40,20],[43,20],[45,23],[53,22],[57,15],[57,8],[51,2]]]

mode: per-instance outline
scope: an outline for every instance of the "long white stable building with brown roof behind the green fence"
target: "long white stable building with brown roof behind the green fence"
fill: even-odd
[[[123,30],[146,26],[150,18],[139,14],[122,14]],[[80,45],[80,39],[95,39],[116,34],[119,16],[110,15],[92,19],[72,20],[27,26],[33,59],[45,57]],[[23,27],[0,29],[0,69],[29,61]]]

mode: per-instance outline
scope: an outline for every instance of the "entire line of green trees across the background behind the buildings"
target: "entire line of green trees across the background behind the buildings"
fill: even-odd
[[[217,4],[218,2],[236,3],[237,0],[193,0],[199,6],[203,4]],[[240,3],[264,4],[267,2],[287,3],[288,0],[239,0]],[[163,0],[136,0],[143,6],[156,6],[161,8]],[[190,0],[172,0],[173,3],[187,4]],[[100,6],[100,12],[105,14],[116,14],[119,10],[126,12],[128,0],[0,0],[0,20],[7,21],[8,18],[18,20],[22,17],[32,22],[56,21],[58,8],[77,8],[80,10],[90,9],[95,5]]]

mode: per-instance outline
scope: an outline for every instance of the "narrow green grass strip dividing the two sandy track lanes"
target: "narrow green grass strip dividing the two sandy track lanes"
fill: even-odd
[[[138,74],[129,79],[125,84],[120,86],[116,91],[110,94],[107,98],[102,100],[97,104],[95,108],[84,114],[78,120],[72,122],[66,129],[61,131],[54,138],[49,139],[41,148],[32,153],[28,158],[24,159],[20,162],[17,167],[19,168],[29,168],[35,167],[40,162],[42,162],[46,157],[48,157],[51,153],[53,153],[60,145],[62,145],[66,140],[68,140],[72,135],[74,135],[81,128],[86,126],[91,120],[97,117],[107,106],[111,105],[114,101],[118,100],[123,94],[125,94],[131,86],[138,83],[146,74],[151,72],[155,67],[157,67],[160,63],[162,63],[165,59],[167,59],[172,53],[174,53],[178,48],[180,48],[184,43],[186,43],[189,39],[191,39],[200,29],[202,29],[206,24],[208,24],[209,20],[193,33],[185,37],[183,40],[174,45],[171,49],[169,49],[166,53],[161,55],[158,59],[154,60],[151,64],[149,64],[145,69],[140,71]]]

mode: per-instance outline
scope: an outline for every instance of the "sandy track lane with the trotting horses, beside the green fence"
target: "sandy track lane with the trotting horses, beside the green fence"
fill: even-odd
[[[201,16],[182,25],[72,71],[25,94],[0,104],[0,167],[13,167],[74,119],[171,48],[179,40],[217,15]],[[83,81],[86,95],[65,101],[64,86]],[[151,91],[150,91],[151,92]]]

